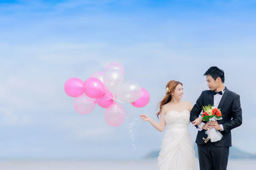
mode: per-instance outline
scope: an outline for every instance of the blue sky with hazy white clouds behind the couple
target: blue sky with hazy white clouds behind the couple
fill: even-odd
[[[110,62],[150,92],[148,106],[127,108],[134,118],[154,117],[167,81],[182,81],[184,100],[195,103],[208,67],[224,69],[243,108],[233,145],[256,153],[255,8],[253,1],[1,1],[0,157],[133,159],[159,149],[164,133],[146,122],[134,120],[133,151],[128,117],[110,127],[99,106],[74,111],[65,81]]]

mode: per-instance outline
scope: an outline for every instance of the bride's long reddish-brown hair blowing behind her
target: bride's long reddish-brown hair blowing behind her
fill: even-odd
[[[175,80],[171,80],[166,84],[166,94],[162,99],[162,101],[159,103],[160,110],[156,113],[157,118],[159,118],[159,115],[161,114],[163,105],[172,101],[172,93],[174,92],[175,88],[179,84],[182,85],[180,81],[175,81]]]

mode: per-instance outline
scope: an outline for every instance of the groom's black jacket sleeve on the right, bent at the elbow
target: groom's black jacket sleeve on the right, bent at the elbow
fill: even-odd
[[[234,129],[235,127],[239,127],[239,125],[242,124],[242,109],[240,104],[240,96],[237,95],[234,99],[234,102],[232,103],[232,119],[225,122],[223,124],[223,128],[225,132],[230,131],[231,129]]]

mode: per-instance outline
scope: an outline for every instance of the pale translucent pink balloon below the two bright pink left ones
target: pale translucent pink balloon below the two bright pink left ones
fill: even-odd
[[[81,96],[76,97],[76,100],[74,101],[74,108],[76,112],[81,115],[91,113],[95,108],[95,99],[82,94]]]

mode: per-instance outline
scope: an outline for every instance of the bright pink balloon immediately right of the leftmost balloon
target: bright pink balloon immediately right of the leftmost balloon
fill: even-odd
[[[88,78],[84,81],[84,93],[91,98],[100,98],[105,94],[105,87],[98,78]]]

